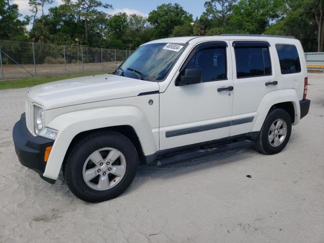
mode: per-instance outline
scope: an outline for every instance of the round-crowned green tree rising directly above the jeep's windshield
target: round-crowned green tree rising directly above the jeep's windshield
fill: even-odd
[[[165,38],[175,26],[191,23],[192,15],[179,4],[163,4],[149,13],[147,21],[153,26],[153,38]]]

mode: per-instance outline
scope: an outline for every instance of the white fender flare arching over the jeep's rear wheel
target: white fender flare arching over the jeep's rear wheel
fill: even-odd
[[[269,113],[270,108],[278,103],[292,102],[295,110],[295,121],[293,125],[297,125],[300,120],[300,106],[299,99],[294,89],[278,90],[267,93],[261,100],[258,107],[258,118],[254,124],[252,132],[258,132],[261,130],[263,122]]]

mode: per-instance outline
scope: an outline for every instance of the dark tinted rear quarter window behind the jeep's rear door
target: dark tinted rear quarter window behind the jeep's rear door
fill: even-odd
[[[276,44],[282,74],[301,72],[297,48],[294,45]]]

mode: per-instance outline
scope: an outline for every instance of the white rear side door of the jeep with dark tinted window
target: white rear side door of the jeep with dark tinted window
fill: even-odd
[[[230,136],[251,132],[262,98],[276,91],[271,66],[275,47],[264,41],[231,41],[233,55],[233,114]],[[279,102],[279,101],[278,101]]]

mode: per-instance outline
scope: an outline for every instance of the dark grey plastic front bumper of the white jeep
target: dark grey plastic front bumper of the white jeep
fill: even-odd
[[[20,164],[37,172],[45,181],[54,184],[55,180],[43,176],[46,167],[45,149],[52,146],[54,140],[32,136],[26,127],[25,113],[14,126],[13,140]]]

